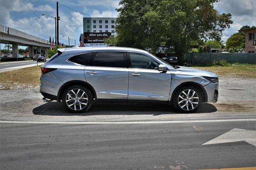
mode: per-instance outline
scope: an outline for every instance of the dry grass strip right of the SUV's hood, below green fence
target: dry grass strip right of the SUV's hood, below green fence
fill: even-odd
[[[256,78],[256,64],[228,64],[228,66],[192,66],[214,72],[218,76],[234,76],[241,78]]]

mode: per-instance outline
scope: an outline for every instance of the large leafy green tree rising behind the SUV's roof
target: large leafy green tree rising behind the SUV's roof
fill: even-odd
[[[118,35],[110,46],[135,47],[157,53],[164,49],[181,58],[192,41],[217,39],[232,24],[231,14],[214,9],[218,0],[121,0],[116,19]]]

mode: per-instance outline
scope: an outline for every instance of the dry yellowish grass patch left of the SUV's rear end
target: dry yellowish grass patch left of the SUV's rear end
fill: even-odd
[[[0,89],[38,89],[41,66],[0,73]]]

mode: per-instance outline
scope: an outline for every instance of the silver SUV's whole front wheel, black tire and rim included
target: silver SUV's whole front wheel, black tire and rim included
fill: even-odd
[[[188,97],[187,97],[188,95]],[[184,86],[175,93],[173,106],[182,113],[194,112],[202,103],[202,95],[197,88]]]

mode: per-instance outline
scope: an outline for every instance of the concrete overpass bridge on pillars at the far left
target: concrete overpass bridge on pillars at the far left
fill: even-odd
[[[17,58],[19,55],[19,45],[28,46],[29,57],[33,56],[34,47],[37,48],[39,53],[41,53],[41,47],[44,47],[45,54],[47,54],[48,48],[50,48],[50,42],[48,40],[4,25],[0,25],[0,43],[12,44],[13,58]]]

